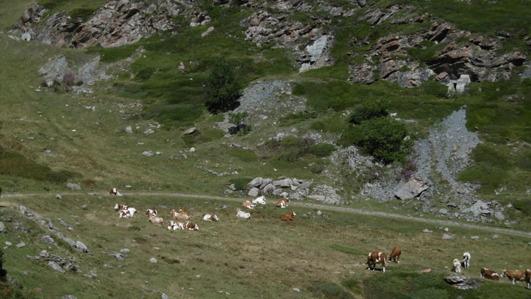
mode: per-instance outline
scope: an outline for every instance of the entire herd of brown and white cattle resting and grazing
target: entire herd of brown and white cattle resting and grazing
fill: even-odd
[[[118,192],[115,188],[111,189],[109,191],[109,194],[121,196],[120,192]],[[286,208],[288,206],[289,199],[282,199],[277,202],[277,208]],[[254,206],[261,204],[265,205],[265,197],[257,197],[256,199],[253,199],[252,201],[248,200],[243,202],[242,206],[243,208],[247,209],[253,209]],[[136,212],[136,209],[131,206],[124,206],[121,204],[116,203],[115,210],[118,211],[118,217],[133,217],[133,215]],[[189,212],[186,212],[182,207],[179,208],[178,211],[171,210],[170,215],[172,219],[174,220],[180,220],[180,221],[169,221],[168,223],[168,230],[180,230],[180,229],[189,229],[189,230],[198,230],[198,225],[194,224],[190,221],[187,221],[189,219]],[[149,217],[149,221],[153,224],[163,224],[164,219],[161,217],[157,217],[157,211],[154,209],[147,209],[146,210],[146,216]],[[283,215],[281,217],[281,221],[293,221],[295,212],[290,212],[286,215]],[[251,214],[249,212],[243,212],[241,209],[236,210],[236,217],[243,218],[243,219],[250,219]],[[218,221],[219,218],[216,215],[210,215],[206,214],[203,216],[203,220],[205,221]],[[386,261],[391,262],[391,260],[395,263],[399,263],[400,255],[402,254],[402,250],[400,247],[395,246],[393,247],[393,250],[391,251],[391,255],[387,257],[386,253],[384,252],[378,252],[373,251],[369,253],[369,256],[367,257],[367,269],[375,270],[376,264],[382,264],[382,272],[385,272],[385,265]],[[451,271],[454,271],[456,273],[461,272],[461,267],[465,269],[469,269],[470,267],[470,260],[472,259],[472,255],[470,253],[463,253],[463,260],[454,259],[452,262]],[[499,281],[499,275],[498,273],[495,273],[494,271],[491,271],[487,268],[481,268],[481,277],[487,278],[489,280]],[[531,270],[503,270],[501,273],[501,277],[508,278],[512,284],[515,284],[516,281],[525,281],[527,282],[527,289],[531,289]]]

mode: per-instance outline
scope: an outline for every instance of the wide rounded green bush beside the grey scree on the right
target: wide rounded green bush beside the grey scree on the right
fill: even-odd
[[[412,145],[411,139],[404,140],[406,136],[408,132],[403,123],[389,117],[371,118],[360,125],[348,127],[339,143],[344,146],[357,145],[362,147],[365,154],[391,163],[404,160]]]

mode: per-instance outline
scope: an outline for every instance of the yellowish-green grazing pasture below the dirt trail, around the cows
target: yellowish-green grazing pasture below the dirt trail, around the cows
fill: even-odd
[[[117,200],[136,206],[140,212],[132,219],[118,219],[111,208]],[[14,222],[30,228],[30,233],[21,233],[8,226],[7,233],[0,236],[2,242],[11,240],[15,244],[19,241],[28,244],[24,248],[12,246],[6,249],[6,269],[27,291],[41,288],[41,293],[35,292],[37,298],[56,298],[65,293],[73,293],[78,298],[159,298],[160,293],[167,293],[172,298],[198,298],[220,296],[219,291],[230,293],[234,298],[322,298],[322,291],[331,296],[334,290],[337,291],[337,285],[352,285],[352,281],[358,282],[358,287],[351,290],[339,287],[348,293],[343,296],[359,298],[364,294],[372,298],[378,289],[373,284],[382,284],[384,289],[390,286],[379,279],[382,273],[364,270],[366,252],[389,251],[395,245],[402,247],[402,262],[389,265],[385,275],[399,280],[404,275],[415,277],[417,271],[426,267],[447,275],[450,261],[460,257],[463,251],[472,253],[472,266],[465,273],[475,277],[479,276],[481,266],[501,271],[506,267],[520,269],[531,262],[525,254],[528,240],[522,237],[501,235],[500,239],[493,240],[490,233],[450,228],[449,233],[456,239],[443,241],[440,239],[443,230],[415,221],[381,221],[377,217],[353,217],[342,212],[324,212],[324,218],[307,208],[274,208],[271,201],[252,211],[250,221],[236,219],[234,210],[239,203],[232,201],[90,197],[82,194],[65,196],[62,200],[21,197],[16,201],[3,199],[4,217],[13,217]],[[43,244],[39,239],[48,234],[46,228],[23,217],[18,212],[18,204],[52,219],[66,236],[84,242],[93,255],[77,253],[64,244],[60,248]],[[82,204],[88,205],[88,210],[80,209]],[[222,204],[228,208],[215,210]],[[157,208],[165,218],[172,207],[185,206],[200,230],[169,232],[164,227],[150,224],[142,211],[160,205],[168,207]],[[290,224],[279,221],[279,217],[290,210],[297,213],[296,221]],[[206,212],[215,212],[221,221],[202,221]],[[304,217],[304,214],[308,216]],[[68,231],[60,226],[57,218],[71,224],[74,230]],[[434,233],[422,233],[423,228],[434,230]],[[471,242],[469,237],[472,235],[478,235],[480,239]],[[489,251],[485,251],[487,247]],[[121,248],[131,250],[124,262],[101,253],[113,253]],[[62,257],[72,255],[84,273],[93,271],[100,282],[77,273],[56,273],[26,257],[37,255],[44,249]],[[503,258],[498,256],[502,252]],[[151,257],[156,257],[158,263],[149,263]],[[119,267],[120,264],[123,267]],[[28,275],[21,275],[21,271],[27,271]],[[62,284],[53,284],[59,279]],[[124,280],[130,287],[123,287]],[[336,286],[331,286],[330,282]],[[487,283],[478,291],[456,293],[439,282],[415,285],[418,289],[413,290],[443,289],[448,294],[461,294],[464,298],[472,294],[478,296],[474,298],[481,298],[490,292],[523,296],[527,292],[523,284],[512,286],[503,281]],[[301,292],[292,291],[292,288],[299,288]]]

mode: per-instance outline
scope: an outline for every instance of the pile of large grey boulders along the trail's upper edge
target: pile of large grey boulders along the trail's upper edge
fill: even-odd
[[[301,179],[272,179],[254,178],[247,184],[247,194],[251,197],[272,195],[290,199],[304,199],[310,193],[309,187],[313,181]]]

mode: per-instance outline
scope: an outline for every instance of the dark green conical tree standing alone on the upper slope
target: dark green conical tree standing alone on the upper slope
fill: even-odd
[[[241,84],[236,80],[233,69],[225,58],[218,60],[212,67],[205,84],[208,111],[217,114],[234,110],[240,105]]]

